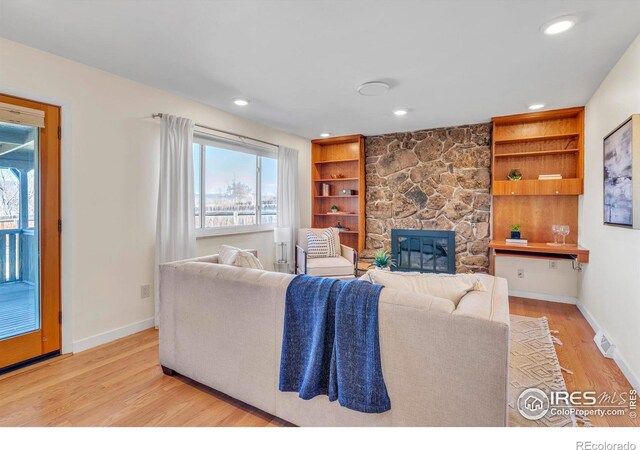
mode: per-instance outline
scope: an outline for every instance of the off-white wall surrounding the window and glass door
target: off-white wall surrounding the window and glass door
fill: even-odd
[[[64,351],[152,323],[153,296],[140,299],[140,286],[153,286],[159,121],[152,113],[298,149],[301,225],[310,223],[307,139],[5,39],[0,92],[62,106]],[[274,259],[271,233],[199,239],[198,253],[225,242]]]

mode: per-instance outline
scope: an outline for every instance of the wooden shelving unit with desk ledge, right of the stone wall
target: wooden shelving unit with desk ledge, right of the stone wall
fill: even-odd
[[[584,192],[584,108],[494,117],[492,122],[492,256],[579,253],[580,262],[588,261],[589,251],[576,244],[578,196]],[[508,179],[512,169],[522,173],[521,180]],[[538,179],[545,174],[562,179]],[[528,247],[505,244],[512,224],[522,226]],[[569,225],[567,242],[573,249],[546,245],[553,242],[554,224]]]

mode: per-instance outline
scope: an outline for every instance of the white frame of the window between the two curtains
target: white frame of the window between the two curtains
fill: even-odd
[[[225,236],[232,234],[246,234],[273,231],[276,224],[261,224],[262,221],[262,158],[272,158],[278,160],[276,148],[269,148],[258,144],[238,142],[218,135],[208,133],[194,133],[193,143],[200,146],[200,228],[196,228],[196,238],[210,236]],[[205,223],[205,200],[206,200],[206,146],[215,146],[225,150],[237,151],[256,155],[256,225],[234,225],[230,227],[204,228]]]

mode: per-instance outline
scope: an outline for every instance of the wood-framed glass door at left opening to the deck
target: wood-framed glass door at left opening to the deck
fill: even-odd
[[[0,94],[0,373],[61,348],[59,124]]]

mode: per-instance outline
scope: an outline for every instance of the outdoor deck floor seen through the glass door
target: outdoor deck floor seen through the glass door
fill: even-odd
[[[33,285],[0,283],[0,339],[28,333],[39,326]]]

